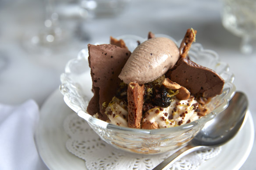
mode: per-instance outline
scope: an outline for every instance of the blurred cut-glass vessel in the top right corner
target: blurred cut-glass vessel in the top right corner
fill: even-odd
[[[241,52],[250,54],[256,42],[256,0],[223,0],[222,24],[242,38]]]

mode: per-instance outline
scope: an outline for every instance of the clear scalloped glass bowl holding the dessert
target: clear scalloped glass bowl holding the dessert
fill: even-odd
[[[181,44],[181,40],[177,42],[167,35],[156,34],[156,37],[167,37],[177,45]],[[146,41],[146,38],[135,35],[123,35],[117,39],[123,39],[131,52],[138,45],[138,41]],[[78,116],[84,118],[100,138],[108,144],[132,153],[164,153],[185,146],[203,128],[206,122],[227,108],[229,100],[235,94],[234,75],[229,72],[228,64],[219,61],[216,52],[203,49],[202,45],[194,43],[188,55],[190,60],[213,69],[225,80],[225,83],[222,94],[213,97],[206,105],[211,112],[185,125],[150,130],[127,128],[107,123],[88,114],[86,108],[93,95],[91,91],[92,79],[88,66],[88,49],[83,49],[76,59],[67,63],[65,73],[60,76],[60,91],[64,95],[65,103]]]

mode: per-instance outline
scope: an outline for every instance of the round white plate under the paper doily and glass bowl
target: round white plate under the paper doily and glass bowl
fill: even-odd
[[[36,131],[36,146],[42,160],[50,170],[86,170],[84,160],[66,149],[68,135],[63,121],[73,111],[63,101],[63,95],[56,90],[43,104]],[[245,162],[254,141],[254,125],[250,112],[240,132],[222,146],[221,153],[203,163],[199,170],[238,170]]]

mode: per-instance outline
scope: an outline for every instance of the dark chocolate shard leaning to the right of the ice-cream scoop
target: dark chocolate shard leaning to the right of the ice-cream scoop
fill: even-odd
[[[224,86],[224,80],[212,69],[185,58],[180,58],[166,77],[187,88],[191,94],[206,98],[221,94]]]

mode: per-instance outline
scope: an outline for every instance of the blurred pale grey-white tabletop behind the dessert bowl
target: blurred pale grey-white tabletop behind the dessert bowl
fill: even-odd
[[[57,0],[58,2],[59,0]],[[228,62],[235,74],[237,90],[249,98],[249,108],[256,123],[256,48],[253,54],[239,51],[240,38],[226,31],[221,24],[221,1],[218,0],[132,0],[127,9],[117,17],[94,20],[71,20],[60,17],[65,29],[76,28],[82,23],[83,31],[91,37],[79,41],[73,36],[63,51],[52,56],[29,53],[22,45],[25,33],[43,27],[43,2],[39,0],[0,0],[0,57],[4,68],[0,69],[0,103],[21,104],[34,99],[39,107],[60,84],[60,73],[65,63],[77,56],[79,50],[94,42],[109,40],[109,36],[124,34],[146,37],[148,31],[183,38],[186,29],[198,31],[196,42],[205,49],[215,50],[220,60]],[[75,43],[73,43],[75,42]],[[45,59],[42,62],[42,58]],[[46,60],[51,59],[51,61]],[[40,60],[40,62],[38,62]],[[256,144],[241,170],[253,170]]]

